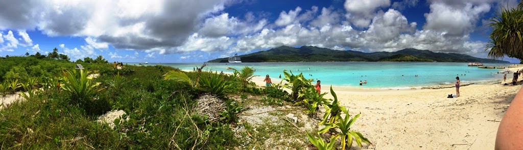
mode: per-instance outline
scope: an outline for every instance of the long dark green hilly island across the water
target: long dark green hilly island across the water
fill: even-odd
[[[429,50],[403,49],[396,52],[340,51],[313,46],[278,48],[240,55],[242,62],[481,62],[509,63],[482,59],[458,53],[437,53]],[[208,61],[227,63],[228,57]]]

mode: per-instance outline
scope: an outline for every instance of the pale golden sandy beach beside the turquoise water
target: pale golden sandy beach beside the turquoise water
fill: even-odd
[[[510,68],[514,72],[521,68]],[[507,82],[512,76],[507,75]],[[279,78],[272,78],[279,83]],[[263,77],[253,78],[265,86]],[[504,82],[505,83],[505,82]],[[322,92],[328,92],[323,85]],[[342,105],[361,112],[354,130],[376,149],[493,149],[499,121],[521,85],[469,85],[460,88],[357,90],[333,87]],[[326,98],[332,98],[330,94]]]

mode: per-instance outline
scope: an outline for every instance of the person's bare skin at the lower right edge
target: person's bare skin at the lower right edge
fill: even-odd
[[[510,103],[499,123],[495,149],[523,149],[523,88]]]

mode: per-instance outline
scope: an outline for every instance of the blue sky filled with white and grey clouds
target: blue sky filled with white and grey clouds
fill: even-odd
[[[0,55],[191,63],[288,45],[486,57],[488,19],[517,0],[0,0]],[[503,60],[519,62],[505,57]]]

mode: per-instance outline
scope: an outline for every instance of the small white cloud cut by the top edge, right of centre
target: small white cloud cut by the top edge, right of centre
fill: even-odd
[[[375,16],[376,9],[388,7],[390,0],[347,0],[344,3],[347,18],[356,27],[368,27],[370,20]]]

